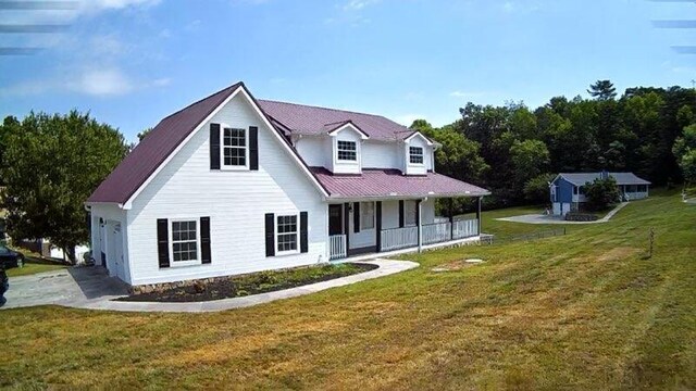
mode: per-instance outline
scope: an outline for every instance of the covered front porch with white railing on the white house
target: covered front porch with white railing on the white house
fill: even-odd
[[[472,241],[481,235],[481,197],[475,218],[435,216],[432,198],[328,204],[328,258],[422,251],[435,244]]]

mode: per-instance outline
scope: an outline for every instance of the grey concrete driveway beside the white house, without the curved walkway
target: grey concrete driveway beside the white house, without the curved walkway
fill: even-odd
[[[75,306],[127,294],[121,280],[100,266],[71,267],[30,276],[10,277],[8,302],[0,310],[45,304]]]

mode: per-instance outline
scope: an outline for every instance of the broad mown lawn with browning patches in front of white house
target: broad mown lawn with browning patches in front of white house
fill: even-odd
[[[470,256],[486,263],[431,270]],[[222,313],[2,311],[0,387],[696,389],[696,207],[679,191],[563,237],[407,257],[422,266]]]

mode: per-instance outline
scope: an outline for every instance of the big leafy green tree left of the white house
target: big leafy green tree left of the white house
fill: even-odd
[[[10,236],[47,238],[75,261],[75,245],[89,238],[84,202],[128,144],[116,129],[76,111],[5,119],[5,131],[4,159],[12,164],[0,167],[0,175]]]

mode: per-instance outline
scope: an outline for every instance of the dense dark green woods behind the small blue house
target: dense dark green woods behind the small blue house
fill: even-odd
[[[470,102],[452,124],[417,119],[411,128],[442,143],[439,173],[493,192],[487,207],[548,202],[548,181],[558,173],[607,169],[633,172],[654,186],[682,182],[696,162],[696,144],[679,147],[688,146],[684,128],[696,122],[694,89],[635,87],[617,97],[610,80],[598,80],[587,92],[589,99],[554,97],[534,110]]]

